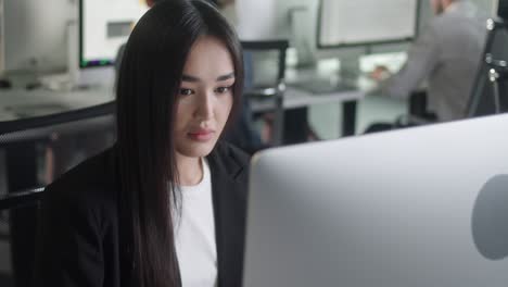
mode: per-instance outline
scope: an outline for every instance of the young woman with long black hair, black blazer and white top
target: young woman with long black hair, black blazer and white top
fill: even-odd
[[[242,78],[212,5],[148,11],[119,72],[116,145],[47,188],[36,284],[240,286],[249,158],[218,138]]]

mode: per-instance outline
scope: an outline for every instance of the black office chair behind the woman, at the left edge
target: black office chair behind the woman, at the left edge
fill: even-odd
[[[114,102],[109,102],[0,122],[0,149],[5,154],[8,182],[7,192],[0,190],[0,216],[4,222],[0,224],[0,238],[10,245],[12,262],[12,275],[0,274],[0,283],[10,278],[12,286],[31,286],[37,203],[43,194],[39,187],[113,144],[114,108]],[[51,176],[42,178],[49,171]]]

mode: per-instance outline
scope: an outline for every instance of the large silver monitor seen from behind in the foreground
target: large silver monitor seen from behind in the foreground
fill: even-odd
[[[269,149],[244,287],[506,286],[508,115]]]

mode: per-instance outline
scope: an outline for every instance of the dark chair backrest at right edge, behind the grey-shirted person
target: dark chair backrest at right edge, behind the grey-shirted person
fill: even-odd
[[[473,88],[469,97],[466,116],[474,117],[496,113],[495,86],[490,82],[492,66],[486,59],[508,61],[508,26],[503,22],[493,22],[495,28],[488,32],[482,61],[477,72]],[[497,82],[499,91],[499,112],[508,112],[508,79]]]

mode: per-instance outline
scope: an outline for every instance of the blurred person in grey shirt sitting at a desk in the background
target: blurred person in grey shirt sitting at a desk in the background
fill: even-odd
[[[486,16],[469,0],[430,0],[435,17],[412,43],[403,68],[371,76],[381,93],[407,98],[427,80],[429,108],[437,121],[465,117],[486,37]],[[388,78],[388,79],[386,79]]]

